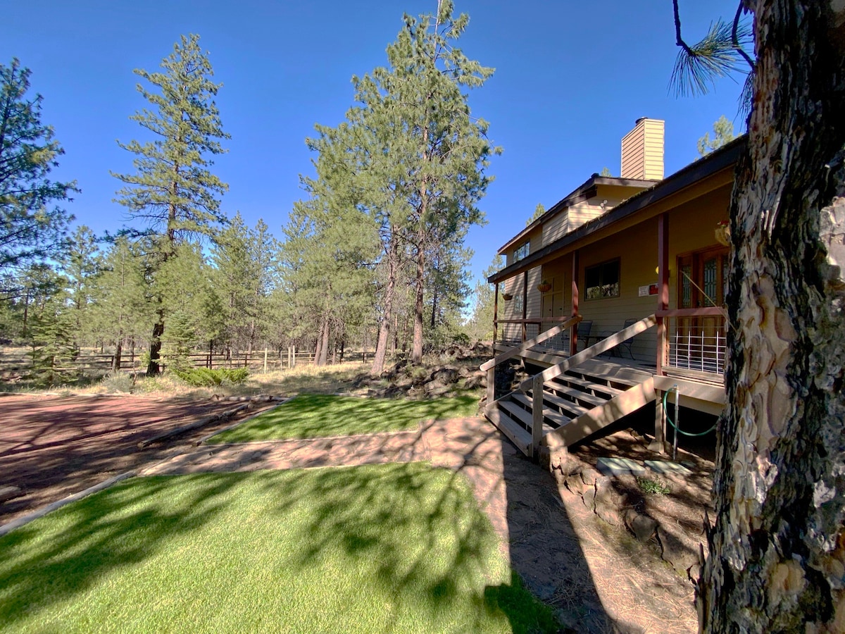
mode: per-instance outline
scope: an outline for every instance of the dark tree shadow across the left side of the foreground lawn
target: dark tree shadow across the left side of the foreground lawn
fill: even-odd
[[[161,510],[146,500],[172,491],[172,483],[133,478],[130,486],[106,489],[56,511],[61,529],[47,536],[40,522],[8,533],[0,538],[0,559],[13,560],[14,555],[15,563],[0,564],[0,623],[12,626],[28,616],[30,606],[49,608],[84,593],[102,575],[155,554],[172,533],[202,527],[221,509],[223,501],[215,499],[237,483],[238,478],[217,478],[194,495],[175,492],[172,504]],[[52,541],[45,548],[48,538]]]

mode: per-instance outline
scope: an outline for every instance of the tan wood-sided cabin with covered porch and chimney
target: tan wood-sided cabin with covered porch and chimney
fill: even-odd
[[[619,178],[593,174],[499,249],[485,414],[528,456],[651,402],[662,452],[667,392],[724,407],[728,205],[745,139],[664,178],[663,134],[638,119]],[[497,390],[514,361],[531,378]]]

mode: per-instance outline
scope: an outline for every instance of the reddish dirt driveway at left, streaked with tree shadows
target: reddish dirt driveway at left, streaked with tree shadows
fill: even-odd
[[[0,504],[0,524],[161,461],[232,420],[143,450],[138,443],[227,408],[231,402],[172,397],[0,396],[0,488],[15,486],[25,494]]]

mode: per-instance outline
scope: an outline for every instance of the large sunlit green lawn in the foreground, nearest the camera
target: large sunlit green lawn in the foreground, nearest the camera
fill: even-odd
[[[11,632],[556,631],[461,474],[134,478],[0,538]]]

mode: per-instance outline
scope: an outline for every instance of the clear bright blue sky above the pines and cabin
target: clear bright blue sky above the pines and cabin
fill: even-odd
[[[113,232],[127,219],[112,202],[119,183],[109,171],[132,169],[116,141],[144,139],[128,119],[146,105],[132,70],[155,70],[181,34],[198,33],[223,83],[217,103],[232,134],[214,168],[230,186],[222,209],[239,210],[251,226],[264,218],[281,236],[303,196],[298,176],[310,173],[304,139],[313,124],[341,122],[352,75],[386,62],[403,13],[436,7],[437,0],[28,0],[3,8],[0,63],[19,57],[32,70],[42,120],[66,150],[54,176],[82,189],[68,204],[76,223]],[[671,0],[456,0],[455,8],[470,14],[464,52],[496,68],[470,107],[504,147],[479,205],[488,223],[468,237],[476,276],[538,202],[548,208],[602,167],[618,175],[620,139],[636,118],[666,121],[667,175],[697,158],[697,139],[722,114],[743,127],[733,81],[705,97],[669,92],[677,52]],[[685,38],[697,41],[711,20],[733,18],[736,3],[682,0],[680,8]]]

